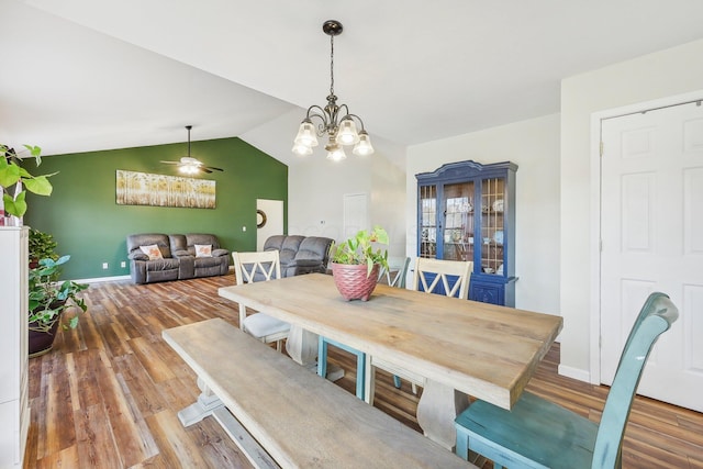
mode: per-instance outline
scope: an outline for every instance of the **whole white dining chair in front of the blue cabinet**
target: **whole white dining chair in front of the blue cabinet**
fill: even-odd
[[[472,269],[472,261],[419,257],[415,260],[412,290],[466,300],[469,298],[469,282]],[[397,388],[400,388],[401,379],[410,381],[414,393],[417,393],[417,386],[424,386],[425,382],[425,378],[420,375],[367,354],[364,397],[366,402],[371,405],[373,405],[376,388],[376,368],[381,368],[392,373],[393,383]]]

